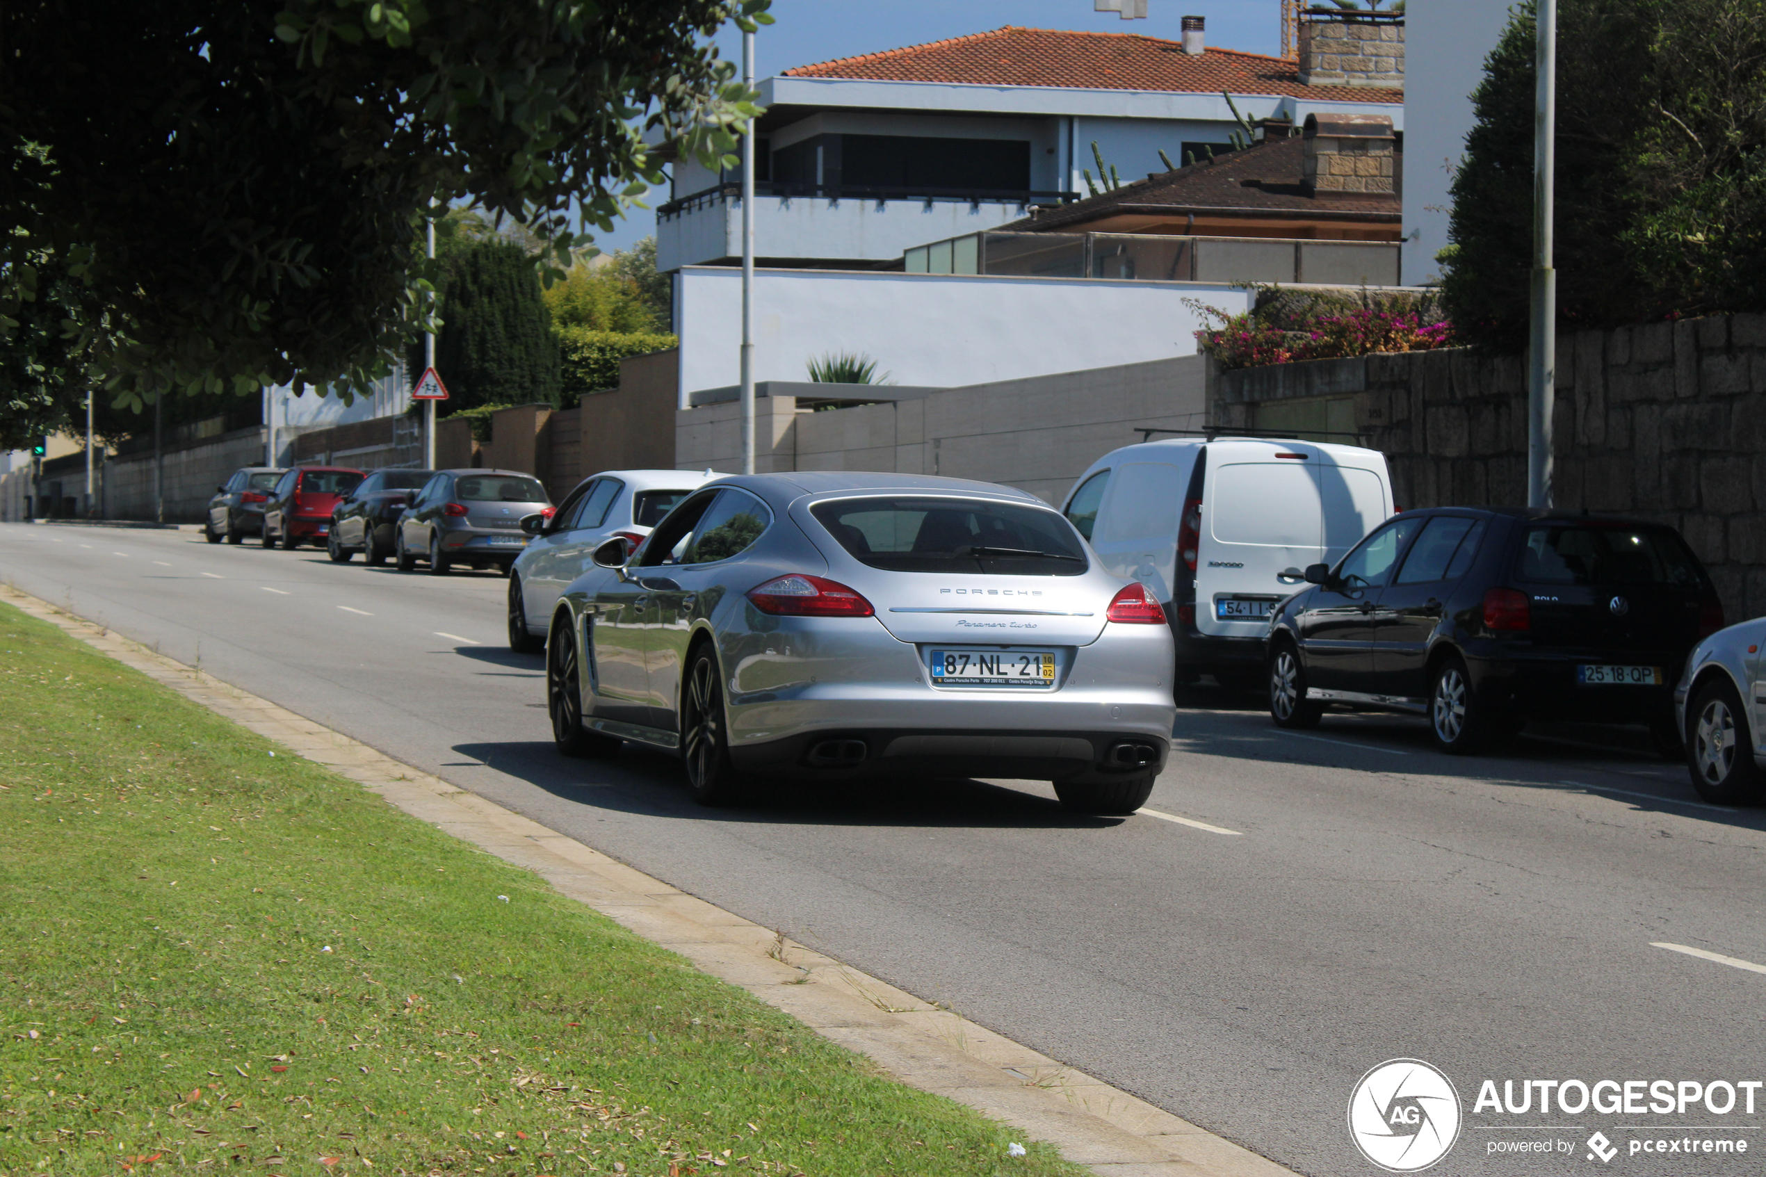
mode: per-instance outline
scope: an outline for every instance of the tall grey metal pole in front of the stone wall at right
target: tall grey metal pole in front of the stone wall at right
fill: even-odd
[[[1551,418],[1558,379],[1558,272],[1552,270],[1552,173],[1558,132],[1558,0],[1538,0],[1533,111],[1533,332],[1528,372],[1528,506],[1552,505]]]

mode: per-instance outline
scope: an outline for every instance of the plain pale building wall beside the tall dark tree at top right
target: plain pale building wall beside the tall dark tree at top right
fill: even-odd
[[[1508,25],[1510,0],[1411,0],[1404,9],[1404,282],[1439,277],[1448,185],[1471,131],[1471,92]]]

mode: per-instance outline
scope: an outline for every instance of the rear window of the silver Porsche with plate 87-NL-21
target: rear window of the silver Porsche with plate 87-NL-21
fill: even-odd
[[[860,563],[892,572],[1072,577],[1079,536],[1053,510],[984,499],[837,499],[809,508]]]

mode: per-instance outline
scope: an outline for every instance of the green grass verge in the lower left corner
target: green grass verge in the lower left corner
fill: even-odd
[[[9,605],[0,699],[7,1177],[1084,1172]]]

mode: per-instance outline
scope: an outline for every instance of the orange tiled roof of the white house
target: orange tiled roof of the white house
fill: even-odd
[[[1178,41],[1141,34],[1091,34],[1007,25],[788,69],[784,78],[941,81],[977,86],[1166,90],[1173,94],[1280,94],[1328,102],[1402,102],[1404,90],[1303,86],[1294,62],[1238,49],[1189,55]]]

